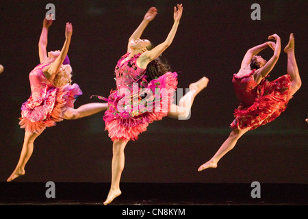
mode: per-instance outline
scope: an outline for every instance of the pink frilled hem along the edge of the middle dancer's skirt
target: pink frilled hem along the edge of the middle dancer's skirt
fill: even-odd
[[[105,130],[109,132],[108,136],[112,141],[114,140],[137,140],[138,135],[146,131],[146,127],[155,120],[162,120],[170,112],[170,103],[174,101],[174,92],[177,89],[177,73],[166,73],[158,79],[150,81],[147,88],[153,90],[157,88],[157,82],[159,83],[159,88],[166,88],[164,90],[163,96],[168,96],[163,98],[163,101],[159,101],[160,107],[157,108],[157,102],[151,112],[148,110],[139,114],[138,116],[133,116],[131,118],[123,118],[120,114],[114,113],[114,107],[112,107],[117,101],[108,101],[110,108],[105,112],[103,119],[105,120]],[[166,103],[167,102],[167,103]],[[156,109],[156,110],[155,110]],[[158,110],[157,110],[158,109]]]

